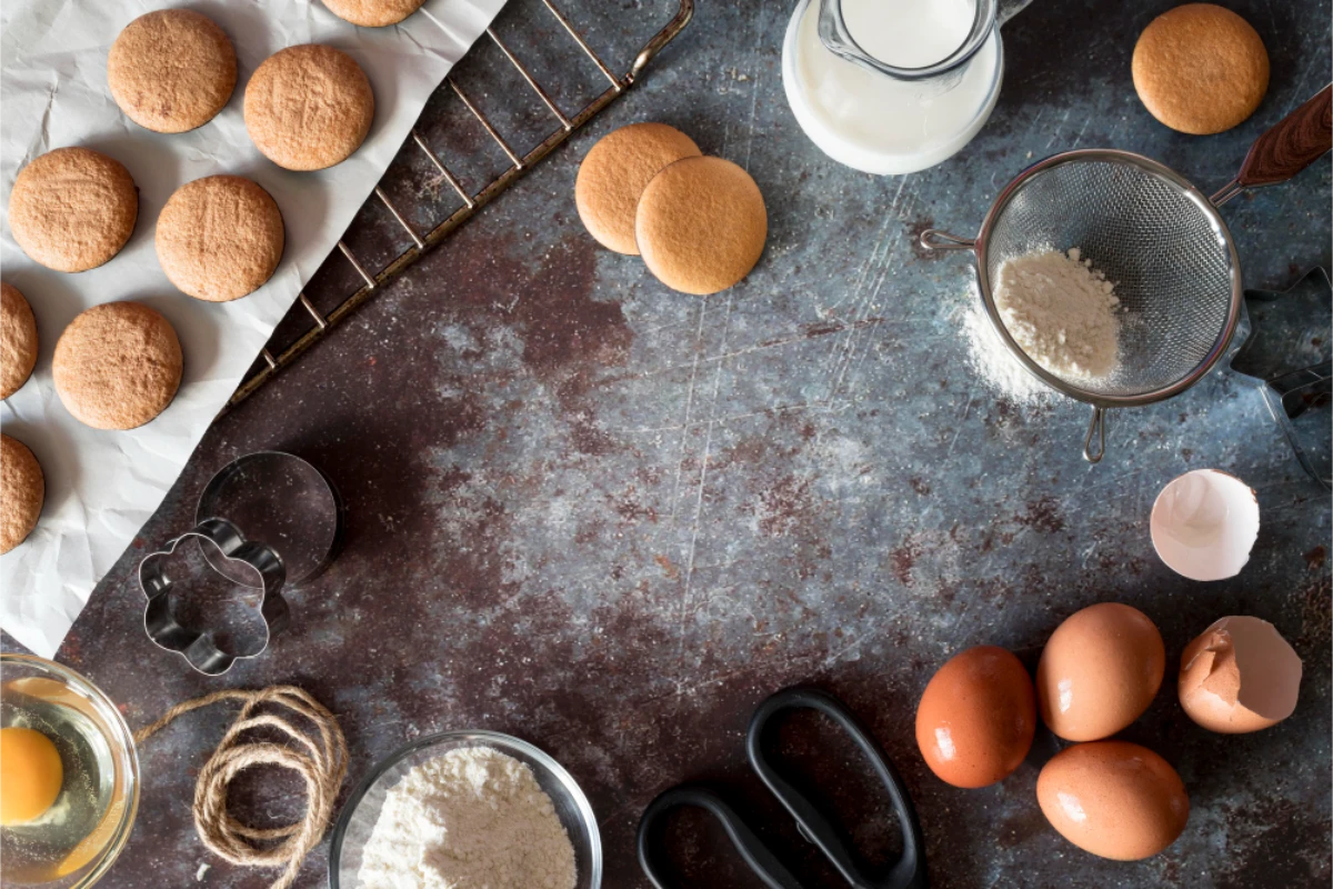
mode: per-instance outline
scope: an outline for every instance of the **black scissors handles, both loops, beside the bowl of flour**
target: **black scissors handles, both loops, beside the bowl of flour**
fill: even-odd
[[[888,876],[872,880],[861,873],[838,830],[769,764],[764,753],[764,732],[769,721],[781,712],[797,709],[818,710],[837,722],[861,748],[874,766],[880,781],[888,789],[893,809],[898,816],[898,828],[902,830],[902,857],[894,862]],[[853,889],[926,889],[930,885],[925,873],[925,841],[921,838],[921,825],[917,821],[912,797],[908,796],[902,778],[898,777],[893,764],[842,701],[810,688],[789,688],[778,692],[760,704],[754,712],[745,748],[749,753],[750,766],[796,818],[796,826],[801,836],[820,848],[824,857],[833,862]],[[805,884],[792,876],[792,872],[777,860],[721,797],[698,784],[685,784],[664,792],[649,804],[644,817],[639,821],[639,864],[657,889],[670,888],[657,862],[660,849],[655,848],[657,836],[655,825],[669,810],[680,806],[696,806],[717,818],[749,869],[770,889],[805,889]]]

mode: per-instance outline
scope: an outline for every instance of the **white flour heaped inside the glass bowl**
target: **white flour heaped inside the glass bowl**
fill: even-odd
[[[575,848],[525,764],[449,750],[389,789],[357,873],[365,889],[575,889]]]

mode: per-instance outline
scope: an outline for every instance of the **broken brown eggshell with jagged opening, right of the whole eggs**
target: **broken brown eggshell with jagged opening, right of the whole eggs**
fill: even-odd
[[[1301,658],[1276,626],[1258,617],[1224,617],[1181,654],[1180,704],[1210,732],[1258,732],[1296,710],[1301,670]]]

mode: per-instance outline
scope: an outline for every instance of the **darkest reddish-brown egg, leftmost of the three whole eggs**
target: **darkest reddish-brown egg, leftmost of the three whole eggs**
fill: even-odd
[[[917,746],[940,780],[984,788],[1018,768],[1037,729],[1032,680],[1002,648],[953,656],[917,705]]]

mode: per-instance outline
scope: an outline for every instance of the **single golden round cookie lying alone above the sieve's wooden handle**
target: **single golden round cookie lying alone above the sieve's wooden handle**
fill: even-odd
[[[1194,136],[1254,113],[1268,92],[1268,51],[1230,9],[1188,3],[1153,19],[1134,45],[1134,89],[1153,117]]]

